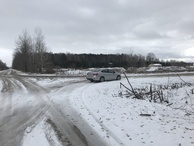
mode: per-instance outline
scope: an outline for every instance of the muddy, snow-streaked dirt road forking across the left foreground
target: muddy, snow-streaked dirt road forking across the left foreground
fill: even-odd
[[[106,145],[92,128],[86,128],[87,123],[78,119],[76,123],[72,122],[77,117],[76,112],[69,106],[63,111],[58,108],[50,100],[50,89],[19,76],[14,70],[0,72],[0,84],[0,146],[22,146],[26,128],[37,125],[45,118],[63,146]],[[71,93],[84,84],[86,82],[69,82],[65,86]],[[85,128],[80,129],[77,125],[85,125]]]

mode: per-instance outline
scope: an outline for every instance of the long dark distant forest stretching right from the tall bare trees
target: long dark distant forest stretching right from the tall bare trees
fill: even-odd
[[[146,56],[136,54],[70,54],[49,53],[50,62],[60,68],[92,68],[92,67],[147,67],[152,63],[163,66],[188,66],[186,62],[160,61],[154,53]]]

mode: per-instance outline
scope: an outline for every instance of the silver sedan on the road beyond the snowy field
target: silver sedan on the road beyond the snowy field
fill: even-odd
[[[116,73],[112,69],[96,69],[94,71],[88,72],[86,75],[86,78],[93,81],[110,81],[110,80],[120,80],[121,75],[119,73]]]

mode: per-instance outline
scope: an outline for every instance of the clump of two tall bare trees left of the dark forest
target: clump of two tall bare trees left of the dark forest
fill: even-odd
[[[16,41],[12,67],[24,72],[43,72],[48,61],[47,47],[40,28],[32,38],[25,30]]]

